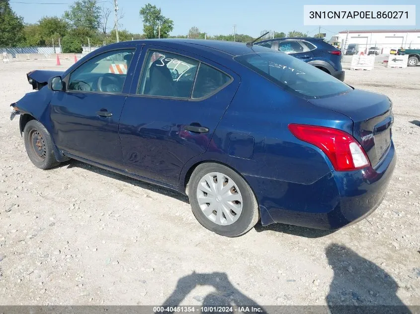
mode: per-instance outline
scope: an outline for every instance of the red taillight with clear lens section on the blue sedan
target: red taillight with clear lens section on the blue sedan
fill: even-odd
[[[350,134],[332,127],[290,124],[300,140],[320,148],[337,171],[351,171],[370,165],[364,149]]]

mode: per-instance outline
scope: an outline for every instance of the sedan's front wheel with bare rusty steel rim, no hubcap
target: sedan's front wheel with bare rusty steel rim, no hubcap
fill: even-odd
[[[45,126],[36,120],[29,121],[23,130],[26,153],[40,169],[51,169],[60,163],[54,155],[53,141]]]

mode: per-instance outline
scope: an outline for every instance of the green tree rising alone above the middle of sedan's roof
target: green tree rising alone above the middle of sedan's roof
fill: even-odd
[[[140,9],[140,15],[143,18],[143,31],[146,38],[158,38],[159,25],[161,26],[161,38],[168,38],[173,30],[173,21],[162,15],[161,8],[147,3]]]

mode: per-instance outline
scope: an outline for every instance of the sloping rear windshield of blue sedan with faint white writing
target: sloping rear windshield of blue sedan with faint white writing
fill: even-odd
[[[284,53],[253,53],[234,59],[304,98],[329,97],[352,90],[330,74]]]

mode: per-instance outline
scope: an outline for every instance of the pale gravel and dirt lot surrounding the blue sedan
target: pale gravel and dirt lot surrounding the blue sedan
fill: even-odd
[[[31,164],[9,104],[31,91],[26,72],[62,63],[0,64],[0,305],[420,305],[420,66],[346,71],[394,102],[398,165],[368,219],[229,239],[172,191],[76,161]]]

